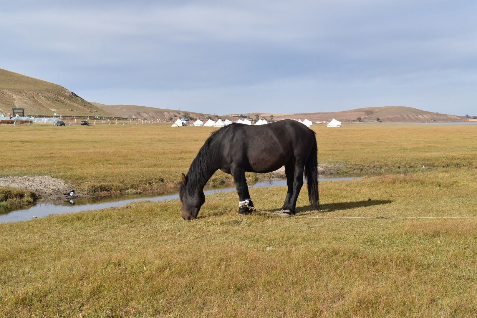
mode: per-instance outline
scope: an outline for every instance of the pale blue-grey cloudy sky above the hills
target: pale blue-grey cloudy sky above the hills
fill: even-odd
[[[201,113],[477,115],[477,1],[0,2],[0,68]]]

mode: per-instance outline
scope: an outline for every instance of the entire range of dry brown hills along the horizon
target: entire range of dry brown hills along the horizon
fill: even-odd
[[[179,117],[217,120],[229,119],[235,121],[239,119],[239,114],[212,115],[207,113],[197,113],[173,109],[163,109],[155,107],[145,107],[137,105],[105,105],[100,103],[89,103],[74,92],[53,84],[15,72],[0,69],[0,112],[9,115],[11,108],[25,108],[26,115],[40,116],[53,113],[63,116],[117,116],[139,119],[176,119]],[[279,119],[309,119],[313,122],[330,121],[335,118],[340,121],[375,120],[379,118],[382,122],[403,122],[418,123],[426,121],[436,122],[459,122],[467,121],[464,116],[433,113],[417,108],[405,106],[384,106],[365,107],[342,112],[331,113],[247,113],[250,118],[274,116]]]

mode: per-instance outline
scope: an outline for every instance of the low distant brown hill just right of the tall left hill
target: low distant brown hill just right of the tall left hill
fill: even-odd
[[[170,118],[176,120],[179,117],[184,117],[187,114],[191,118],[200,118],[200,119],[207,119],[211,117],[213,120],[217,120],[221,118],[223,120],[237,120],[237,117],[234,116],[217,116],[211,115],[206,113],[197,113],[197,112],[187,112],[187,111],[179,111],[174,109],[163,109],[163,108],[155,108],[155,107],[146,107],[146,106],[138,106],[138,105],[104,105],[100,103],[92,103],[94,106],[108,112],[112,113],[116,116],[120,117],[127,117],[127,118],[139,118],[139,119],[167,119]]]

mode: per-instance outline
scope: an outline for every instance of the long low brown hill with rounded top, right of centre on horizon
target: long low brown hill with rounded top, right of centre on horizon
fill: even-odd
[[[270,118],[270,115],[273,115],[275,120],[282,118],[297,120],[307,118],[313,122],[330,121],[333,118],[343,122],[353,121],[357,118],[361,118],[362,120],[375,120],[376,118],[379,118],[380,121],[385,123],[421,123],[426,121],[462,122],[468,120],[468,118],[464,116],[427,112],[417,108],[405,106],[365,107],[332,113],[248,113],[245,115],[248,115],[252,118],[255,118],[256,115],[259,115],[260,118],[265,116],[267,119]],[[234,114],[229,116],[234,116]]]

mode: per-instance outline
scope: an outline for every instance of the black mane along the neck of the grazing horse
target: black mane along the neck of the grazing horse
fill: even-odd
[[[207,138],[206,142],[197,153],[197,156],[192,161],[192,164],[190,164],[189,171],[187,172],[187,185],[184,185],[184,183],[181,182],[181,193],[187,191],[187,193],[194,194],[203,189],[207,178],[210,177],[207,171],[208,164],[210,163],[210,144],[215,138],[222,135],[229,126],[222,127],[215,132],[212,132]]]

